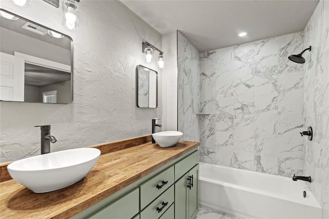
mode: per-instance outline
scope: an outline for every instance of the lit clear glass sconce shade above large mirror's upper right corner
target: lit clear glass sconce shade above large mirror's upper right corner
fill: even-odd
[[[76,2],[80,2],[80,0],[65,0],[63,2],[62,25],[69,30],[79,28],[79,8]]]

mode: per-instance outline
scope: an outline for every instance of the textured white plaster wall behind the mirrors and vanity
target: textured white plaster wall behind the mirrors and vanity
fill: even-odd
[[[61,2],[62,3],[62,2]],[[157,109],[136,107],[136,66],[144,63],[142,41],[161,49],[161,34],[118,1],[81,1],[80,28],[65,29],[62,11],[41,0],[31,8],[9,1],[1,7],[70,35],[74,40],[74,101],[68,105],[0,103],[1,163],[40,154],[40,128],[51,125],[58,142],[51,151],[87,147],[151,133]]]

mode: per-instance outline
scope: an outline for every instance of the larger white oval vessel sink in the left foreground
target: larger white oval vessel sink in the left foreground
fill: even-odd
[[[10,176],[35,193],[65,188],[93,169],[101,151],[77,148],[25,158],[8,165]]]

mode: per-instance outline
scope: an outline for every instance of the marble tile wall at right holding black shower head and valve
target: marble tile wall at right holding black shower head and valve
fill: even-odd
[[[320,1],[304,30],[305,54],[304,127],[312,126],[314,140],[304,140],[305,174],[329,218],[329,2]]]

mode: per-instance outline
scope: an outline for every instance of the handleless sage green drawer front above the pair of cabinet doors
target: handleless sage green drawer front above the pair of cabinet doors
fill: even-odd
[[[187,173],[192,167],[199,163],[199,151],[195,151],[191,155],[175,164],[175,181]]]

